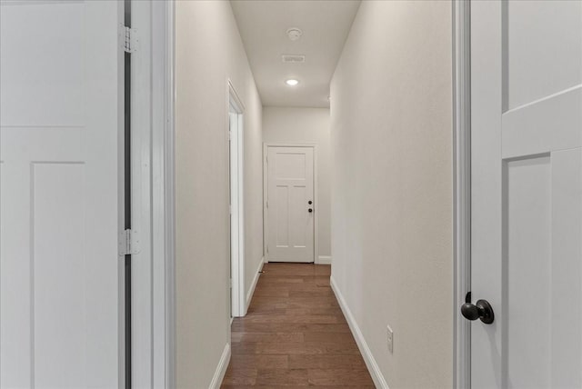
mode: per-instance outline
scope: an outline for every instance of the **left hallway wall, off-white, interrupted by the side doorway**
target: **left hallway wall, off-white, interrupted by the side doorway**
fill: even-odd
[[[229,2],[176,2],[176,380],[207,388],[229,341],[227,88],[246,105],[246,268],[262,243],[262,104]],[[247,285],[248,286],[248,285]]]

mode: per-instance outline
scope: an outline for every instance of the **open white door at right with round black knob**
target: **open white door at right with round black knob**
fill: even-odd
[[[471,3],[477,388],[582,387],[582,2]]]

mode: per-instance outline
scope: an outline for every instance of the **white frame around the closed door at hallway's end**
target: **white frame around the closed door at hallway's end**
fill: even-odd
[[[269,147],[311,147],[313,148],[313,197],[316,206],[319,206],[319,180],[317,178],[317,145],[313,143],[284,143],[284,142],[263,142],[263,255],[265,263],[269,262],[269,255],[266,250],[268,244],[268,214],[266,208],[266,199],[268,195],[268,165],[266,155]],[[318,212],[314,213],[313,230],[313,260],[314,264],[321,264],[319,260],[319,217]]]

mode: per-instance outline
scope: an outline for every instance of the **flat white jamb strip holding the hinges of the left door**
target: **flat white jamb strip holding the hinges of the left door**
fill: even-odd
[[[131,255],[131,381],[135,387],[154,384],[152,15],[152,3],[131,0],[132,29],[140,35],[139,50],[131,53],[131,226],[140,234],[140,250]]]

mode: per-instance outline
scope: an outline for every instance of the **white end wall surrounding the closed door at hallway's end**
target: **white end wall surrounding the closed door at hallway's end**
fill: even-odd
[[[329,109],[263,107],[263,141],[317,145],[319,255],[331,255]]]

